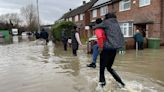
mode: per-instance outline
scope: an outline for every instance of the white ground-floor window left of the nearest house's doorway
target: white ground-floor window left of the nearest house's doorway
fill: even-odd
[[[120,23],[124,37],[133,37],[133,23]]]

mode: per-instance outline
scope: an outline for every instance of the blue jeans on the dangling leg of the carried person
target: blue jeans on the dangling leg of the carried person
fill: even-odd
[[[93,45],[92,63],[96,64],[97,56],[99,55],[98,44]]]

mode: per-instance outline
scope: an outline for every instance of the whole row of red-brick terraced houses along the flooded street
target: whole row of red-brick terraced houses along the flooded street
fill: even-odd
[[[87,34],[85,26],[92,26],[96,18],[114,12],[126,39],[126,47],[135,47],[136,28],[144,35],[144,46],[159,48],[164,45],[164,0],[91,0],[64,14],[62,19],[74,21],[81,35]],[[93,34],[90,29],[89,34]]]

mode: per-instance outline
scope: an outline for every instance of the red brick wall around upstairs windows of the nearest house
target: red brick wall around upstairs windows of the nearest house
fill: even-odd
[[[133,3],[136,1],[136,3]],[[118,20],[120,22],[133,21],[134,23],[153,22],[149,25],[149,37],[160,37],[161,11],[160,0],[151,0],[151,5],[139,7],[139,0],[132,0],[132,7],[127,11],[119,11],[119,3],[114,5]],[[150,27],[152,26],[152,27]]]

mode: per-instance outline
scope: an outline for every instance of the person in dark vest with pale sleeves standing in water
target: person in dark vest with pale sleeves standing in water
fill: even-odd
[[[82,42],[80,40],[79,33],[77,32],[77,27],[74,26],[72,30],[72,53],[74,56],[77,56],[77,50],[79,48],[79,45],[82,46]]]

